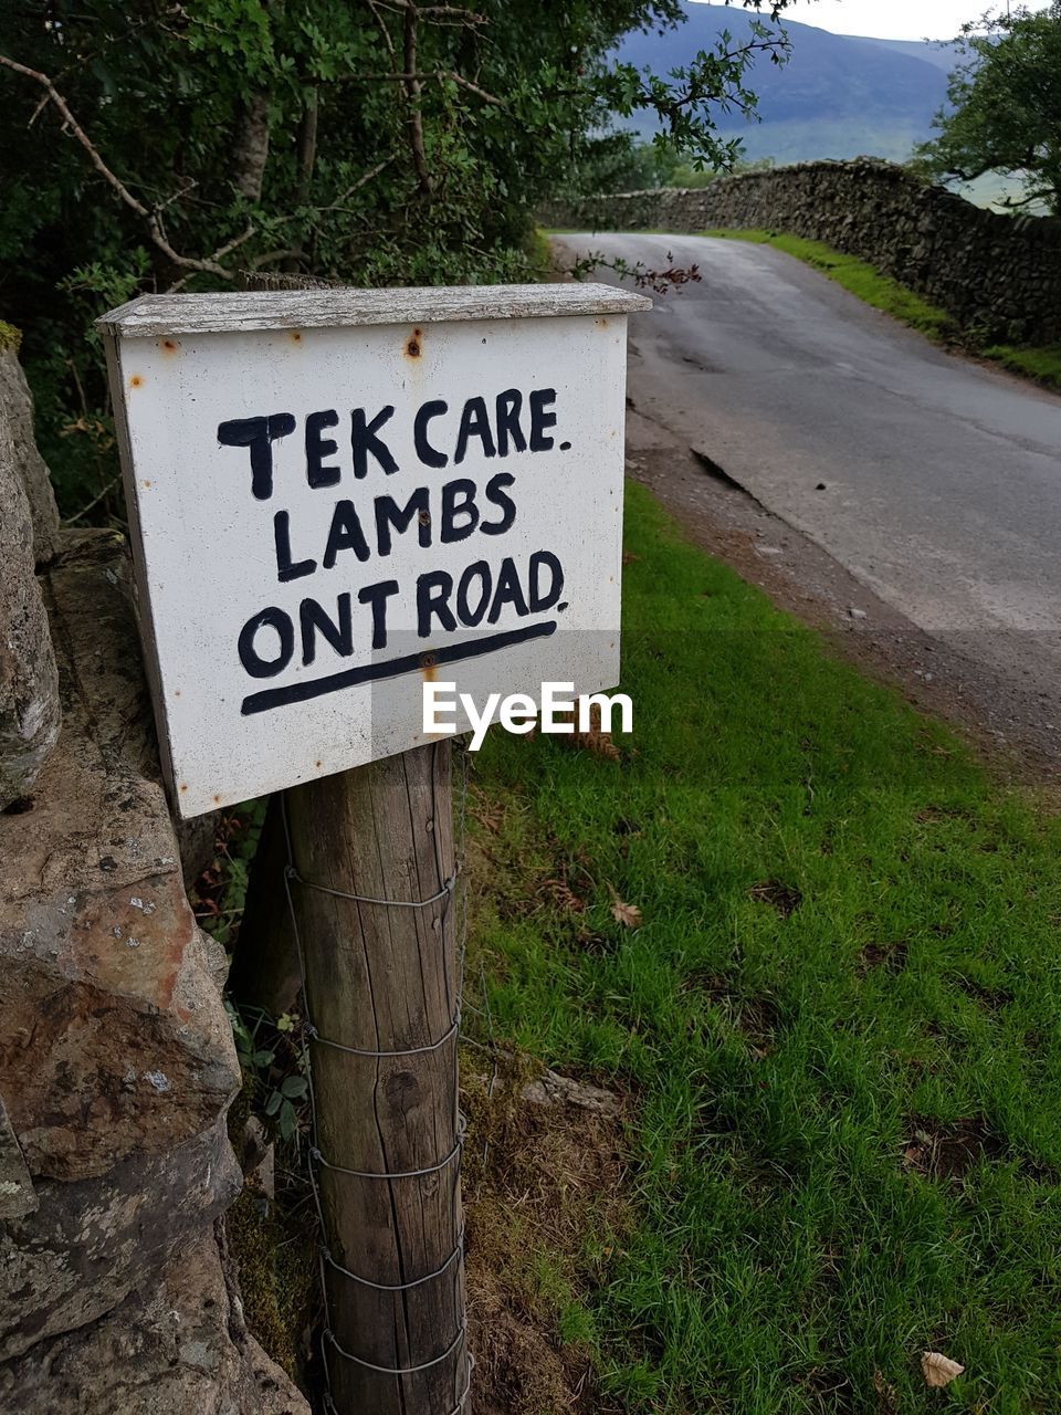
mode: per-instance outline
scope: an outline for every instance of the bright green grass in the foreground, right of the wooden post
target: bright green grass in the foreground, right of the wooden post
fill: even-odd
[[[494,1024],[635,1104],[564,1327],[631,1412],[1058,1411],[1061,828],[635,485],[627,541],[622,760],[494,729],[474,774]]]

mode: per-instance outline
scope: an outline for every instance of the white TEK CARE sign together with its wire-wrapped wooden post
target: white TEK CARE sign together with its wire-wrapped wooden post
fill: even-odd
[[[505,686],[618,681],[627,316],[649,304],[225,291],[98,321],[171,802],[289,788],[297,874],[269,836],[257,873],[290,886],[317,1029],[341,1415],[468,1415],[450,750],[423,746],[422,689],[453,672],[463,732]],[[280,998],[257,880],[248,913],[240,969],[260,923]]]

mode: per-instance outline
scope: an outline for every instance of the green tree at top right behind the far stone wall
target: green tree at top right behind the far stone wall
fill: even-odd
[[[963,62],[948,88],[939,136],[920,149],[928,170],[972,181],[987,171],[1020,177],[1024,195],[1061,211],[1061,0],[1020,7],[962,30]]]

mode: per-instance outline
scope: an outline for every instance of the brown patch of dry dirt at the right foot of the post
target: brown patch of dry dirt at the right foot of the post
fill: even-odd
[[[481,1415],[610,1415],[594,1388],[584,1299],[628,1227],[622,1122],[530,1104],[526,1063],[463,1058],[467,1288]],[[597,1254],[597,1257],[587,1257]]]

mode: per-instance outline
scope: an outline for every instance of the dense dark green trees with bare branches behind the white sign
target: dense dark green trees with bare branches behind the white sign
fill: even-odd
[[[665,143],[724,164],[712,109],[751,106],[748,67],[782,41],[757,28],[668,78],[607,61],[680,18],[680,0],[0,0],[0,303],[65,512],[119,509],[86,344],[103,307],[526,279],[535,202],[611,112],[649,108]]]

